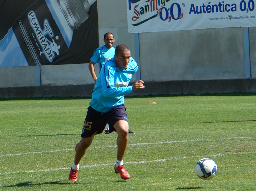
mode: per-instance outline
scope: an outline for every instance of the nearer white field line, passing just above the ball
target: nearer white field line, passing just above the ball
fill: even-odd
[[[192,156],[192,157],[171,157],[171,158],[165,158],[165,159],[159,159],[159,160],[152,160],[152,161],[137,161],[137,162],[125,162],[125,164],[141,164],[141,163],[159,163],[159,162],[165,162],[165,161],[170,161],[170,160],[182,160],[182,159],[187,159],[187,158],[210,158],[210,157],[218,157],[218,156],[225,156],[225,155],[247,155],[247,154],[255,154],[255,152],[239,152],[239,153],[220,153],[216,155],[208,155],[208,156]],[[101,166],[114,166],[115,163],[113,164],[94,164],[94,165],[85,165],[85,166],[80,166],[80,168],[92,168],[92,167],[101,167]],[[17,172],[4,172],[0,173],[1,175],[7,175],[7,174],[18,174],[18,173],[35,173],[35,172],[51,172],[51,171],[60,171],[60,170],[69,170],[71,167],[68,168],[55,168],[55,169],[45,169],[45,170],[34,170],[34,171],[17,171]]]

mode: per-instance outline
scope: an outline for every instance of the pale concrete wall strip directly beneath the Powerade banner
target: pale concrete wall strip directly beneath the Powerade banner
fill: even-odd
[[[95,72],[99,73],[97,65]],[[36,86],[38,75],[42,86],[94,83],[88,64],[44,65],[40,66],[39,73],[36,72],[36,66],[0,67],[0,87]]]

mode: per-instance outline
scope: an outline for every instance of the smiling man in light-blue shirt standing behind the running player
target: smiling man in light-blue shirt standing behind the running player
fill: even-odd
[[[102,66],[110,59],[114,57],[115,54],[115,47],[113,44],[115,42],[114,34],[108,32],[104,34],[105,45],[97,48],[92,55],[90,62],[89,62],[89,70],[92,75],[94,82],[97,81],[97,76],[95,74],[94,65],[98,62],[99,65],[99,73]],[[109,132],[109,125],[106,124],[104,129],[105,134],[110,134]],[[129,129],[129,133],[134,133],[132,130]]]

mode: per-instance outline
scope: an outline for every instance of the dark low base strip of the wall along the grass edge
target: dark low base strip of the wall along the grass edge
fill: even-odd
[[[256,79],[145,82],[143,90],[127,96],[194,95],[256,92]],[[94,84],[0,88],[0,98],[91,97]],[[254,95],[254,94],[252,94]]]

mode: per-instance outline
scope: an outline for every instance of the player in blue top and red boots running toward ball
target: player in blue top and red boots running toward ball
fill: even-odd
[[[135,82],[132,86],[128,86],[137,70],[137,63],[131,57],[128,47],[118,45],[114,58],[105,63],[96,81],[92,99],[89,103],[90,106],[85,117],[81,140],[75,147],[74,164],[71,167],[68,180],[77,181],[79,162],[86,149],[91,145],[94,136],[103,132],[106,123],[109,124],[110,132],[116,131],[118,134],[114,170],[120,174],[122,179],[130,178],[123,166],[129,128],[124,96],[144,88],[142,80]]]

